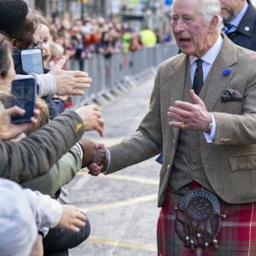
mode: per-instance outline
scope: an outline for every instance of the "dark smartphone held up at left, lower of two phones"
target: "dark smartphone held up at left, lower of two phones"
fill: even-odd
[[[10,107],[18,106],[26,110],[24,115],[14,114],[14,124],[30,123],[36,108],[37,83],[33,78],[15,79],[11,84]]]

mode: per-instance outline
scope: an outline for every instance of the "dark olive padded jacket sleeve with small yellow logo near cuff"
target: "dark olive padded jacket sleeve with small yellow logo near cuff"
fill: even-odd
[[[49,172],[83,133],[82,119],[67,111],[19,143],[0,142],[0,177],[21,183]]]

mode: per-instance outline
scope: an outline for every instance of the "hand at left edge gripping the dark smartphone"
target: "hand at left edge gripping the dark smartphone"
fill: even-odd
[[[37,123],[38,120],[36,118],[31,118],[31,123],[26,124],[12,124],[11,116],[13,114],[24,114],[26,111],[17,106],[13,108],[4,109],[0,114],[0,139],[2,140],[10,140],[14,137],[19,136],[23,131],[32,129]],[[39,110],[34,109],[35,116],[39,115]]]

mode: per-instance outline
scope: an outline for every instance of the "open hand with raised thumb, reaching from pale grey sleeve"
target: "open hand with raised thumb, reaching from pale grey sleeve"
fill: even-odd
[[[67,71],[62,67],[66,62],[66,57],[61,56],[61,60],[51,68],[50,72],[57,84],[57,95],[84,95],[84,89],[90,87],[91,79],[88,74],[82,71]]]

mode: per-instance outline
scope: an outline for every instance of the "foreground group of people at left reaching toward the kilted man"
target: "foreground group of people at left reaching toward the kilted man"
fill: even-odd
[[[104,155],[95,155],[97,145],[84,137],[84,131],[103,136],[104,120],[93,105],[63,113],[57,96],[83,95],[91,81],[87,73],[63,70],[64,56],[43,74],[24,72],[20,51],[38,47],[44,19],[23,0],[1,0],[0,16],[0,222],[5,224],[0,252],[68,255],[69,248],[90,235],[90,223],[79,208],[57,199],[61,186],[90,160],[102,160]],[[38,109],[31,122],[13,124],[11,117],[26,110],[9,108],[11,83],[24,78],[37,82]]]

